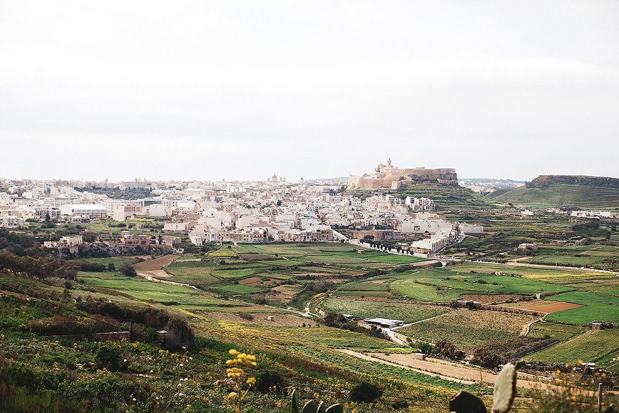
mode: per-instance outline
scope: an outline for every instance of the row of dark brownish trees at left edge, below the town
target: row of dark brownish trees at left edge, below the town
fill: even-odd
[[[8,252],[0,252],[0,271],[12,272],[19,277],[37,278],[45,280],[49,277],[75,280],[79,265],[63,259],[48,256],[18,257]]]

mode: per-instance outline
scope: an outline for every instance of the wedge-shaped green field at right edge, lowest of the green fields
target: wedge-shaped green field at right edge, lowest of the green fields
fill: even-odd
[[[589,330],[526,357],[549,363],[599,363],[619,370],[619,329]]]

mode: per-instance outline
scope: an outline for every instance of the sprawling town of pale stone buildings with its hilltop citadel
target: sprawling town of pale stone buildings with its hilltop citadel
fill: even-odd
[[[412,172],[411,172],[412,171]],[[370,178],[349,178],[348,188],[401,187],[409,173],[428,177],[441,171],[442,183],[457,183],[453,169],[398,169],[379,165]],[[452,172],[445,172],[452,171]],[[422,171],[423,172],[423,171]],[[436,172],[438,173],[438,172]],[[445,174],[449,174],[448,179]],[[407,176],[410,178],[410,176]],[[419,178],[421,179],[421,178]],[[410,180],[410,179],[409,179]],[[350,183],[353,182],[353,183]],[[349,239],[408,241],[406,251],[430,255],[460,239],[461,234],[481,233],[482,226],[451,223],[436,213],[435,202],[425,197],[386,193],[347,192],[344,185],[321,182],[287,182],[272,175],[262,182],[83,182],[5,179],[0,192],[0,225],[22,228],[27,221],[89,223],[110,220],[122,223],[132,218],[150,218],[162,225],[161,233],[186,236],[196,246],[208,242],[331,242]],[[119,195],[113,195],[117,190]],[[134,195],[129,198],[130,195]],[[144,195],[136,197],[135,195]],[[118,198],[120,196],[121,198]],[[122,197],[125,198],[122,198]],[[175,249],[181,238],[139,233],[148,228],[136,224],[119,239],[99,236],[111,247],[132,245]],[[151,226],[152,228],[152,226]],[[137,231],[137,232],[136,232]],[[83,239],[47,242],[44,247],[77,251]]]

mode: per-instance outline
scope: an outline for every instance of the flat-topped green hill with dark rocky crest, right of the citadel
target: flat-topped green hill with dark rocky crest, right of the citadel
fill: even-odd
[[[579,175],[540,175],[524,187],[492,193],[491,198],[526,207],[619,208],[619,179]]]

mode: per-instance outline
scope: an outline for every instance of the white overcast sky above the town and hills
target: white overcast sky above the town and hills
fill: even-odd
[[[0,177],[619,177],[619,1],[0,0]]]

